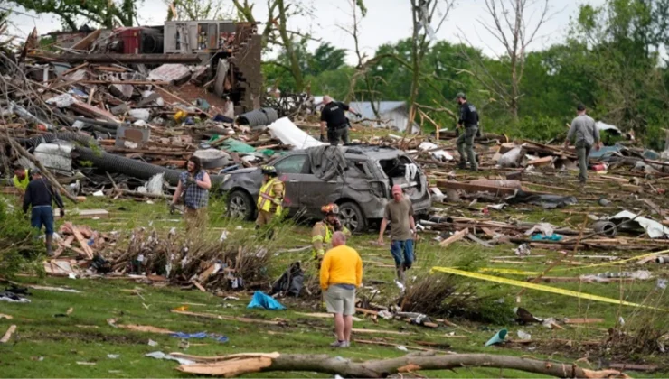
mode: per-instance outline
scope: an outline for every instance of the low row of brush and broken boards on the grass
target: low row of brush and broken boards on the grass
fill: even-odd
[[[51,276],[127,276],[201,291],[253,289],[268,284],[267,249],[231,246],[225,238],[192,239],[177,234],[174,228],[167,233],[139,228],[128,235],[107,234],[68,222],[61,226],[55,241],[60,247],[44,262],[45,273]]]

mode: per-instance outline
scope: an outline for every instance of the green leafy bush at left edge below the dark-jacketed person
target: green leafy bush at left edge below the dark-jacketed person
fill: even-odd
[[[23,210],[0,198],[0,276],[11,276],[33,263],[44,250]]]

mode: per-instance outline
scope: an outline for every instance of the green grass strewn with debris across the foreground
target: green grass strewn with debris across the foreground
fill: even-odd
[[[579,207],[592,206],[583,203]],[[617,204],[623,205],[623,204]],[[105,208],[111,217],[99,220],[79,219],[72,208]],[[523,221],[549,221],[553,225],[570,224],[578,228],[583,215],[570,215],[559,211],[544,211],[541,208],[523,210],[529,206],[508,209],[504,212],[491,214],[493,219],[507,220],[513,218]],[[574,210],[578,210],[575,207]],[[461,212],[463,216],[472,216],[472,210],[458,210],[450,205],[447,214]],[[178,217],[169,215],[165,202],[155,201],[154,204],[137,202],[127,199],[89,198],[86,202],[69,207],[66,220],[75,225],[90,225],[99,231],[127,232],[133,228],[145,226],[167,230],[176,227],[183,231],[182,222]],[[231,240],[250,241],[253,239],[253,226],[250,223],[232,221],[221,217],[221,200],[212,201],[210,207],[211,225],[202,238],[218,238],[222,230],[231,232]],[[460,213],[457,213],[458,215]],[[59,221],[60,223],[61,221]],[[238,230],[241,226],[241,230]],[[532,249],[530,257],[504,259],[497,257],[514,255],[516,245],[495,245],[485,248],[471,241],[460,241],[447,249],[440,248],[436,235],[424,234],[417,245],[418,262],[408,274],[409,284],[413,278],[429,275],[432,267],[458,267],[467,271],[481,268],[514,269],[526,272],[541,272],[548,264],[560,259],[563,254],[555,251]],[[300,260],[307,262],[309,252],[287,253],[285,250],[309,244],[309,228],[307,225],[283,226],[278,238],[269,245],[271,260],[268,267],[269,278],[276,279],[287,269],[289,263]],[[380,291],[374,299],[375,303],[390,305],[400,296],[400,290],[392,282],[394,268],[391,254],[387,246],[373,244],[376,235],[371,232],[361,236],[353,236],[349,245],[355,247],[363,256],[363,282],[381,282],[381,284],[365,284],[361,295],[370,296],[372,290]],[[630,257],[634,254],[620,252],[579,252],[579,254],[616,254]],[[491,262],[495,261],[495,262]],[[520,263],[509,263],[509,262]],[[602,263],[596,259],[579,259],[584,265]],[[665,265],[666,266],[666,265]],[[667,268],[656,263],[638,266],[634,263],[610,265],[604,267],[579,268],[575,265],[560,264],[555,269],[555,276],[579,276],[581,274],[604,273],[617,271],[650,270],[655,276],[666,277]],[[309,272],[312,273],[312,272]],[[524,281],[527,275],[510,275],[490,273],[500,277]],[[38,284],[53,287],[68,287],[78,293],[60,291],[32,290],[29,304],[8,304],[0,302],[0,313],[11,315],[14,319],[0,319],[0,335],[10,325],[18,327],[17,333],[9,343],[0,345],[0,377],[2,378],[158,378],[182,377],[174,370],[178,365],[172,361],[156,360],[145,357],[154,351],[185,352],[198,356],[223,355],[241,352],[273,352],[281,353],[325,353],[331,356],[343,356],[354,360],[372,360],[406,354],[392,346],[366,345],[354,343],[348,349],[333,350],[327,345],[333,340],[330,319],[307,317],[300,313],[323,312],[320,301],[280,299],[287,311],[247,310],[250,292],[235,292],[228,295],[239,297],[240,300],[224,300],[223,297],[211,293],[203,293],[196,289],[181,289],[177,286],[159,287],[140,284],[123,279],[62,279],[43,278],[39,276],[19,276],[14,279],[24,285]],[[404,334],[356,334],[354,338],[378,340],[391,344],[418,347],[421,342],[448,344],[448,351],[457,353],[490,353],[510,356],[532,356],[539,359],[553,359],[565,363],[573,363],[580,358],[579,365],[590,368],[606,368],[610,363],[654,364],[667,369],[666,354],[636,354],[610,350],[604,345],[591,347],[583,342],[606,341],[608,328],[616,325],[617,320],[625,320],[624,330],[633,332],[636,328],[653,324],[655,328],[669,331],[669,317],[661,310],[644,310],[634,307],[622,307],[618,304],[584,300],[543,291],[528,290],[516,302],[520,288],[494,282],[482,282],[474,279],[459,278],[463,288],[470,283],[476,293],[491,301],[504,302],[508,308],[521,306],[532,312],[536,317],[555,318],[601,318],[604,322],[583,326],[563,325],[562,329],[549,329],[541,324],[519,326],[512,319],[497,323],[473,322],[466,319],[448,319],[457,328],[440,326],[437,329],[412,326],[395,320],[379,319],[378,324],[369,319],[357,322],[354,328],[370,328],[401,331]],[[655,278],[649,281],[613,282],[613,283],[550,283],[551,287],[571,291],[604,296],[611,299],[622,299],[630,302],[652,305],[669,309],[669,298],[663,290],[656,288]],[[220,315],[244,316],[251,319],[284,319],[287,326],[244,323],[219,319],[198,319],[192,316],[170,312],[177,307],[186,306],[189,311]],[[68,315],[67,311],[71,309]],[[363,317],[363,316],[359,316]],[[138,324],[167,328],[173,331],[200,332],[207,331],[225,335],[230,338],[226,343],[219,343],[211,338],[191,340],[190,346],[184,351],[178,338],[155,333],[135,332],[123,328],[113,328],[108,319],[116,319],[120,325]],[[485,341],[500,328],[508,328],[509,337],[517,340],[518,330],[523,330],[538,341],[529,345],[506,344],[499,347],[484,347]],[[158,346],[148,345],[149,339]],[[569,346],[564,340],[572,341]],[[666,339],[664,340],[666,341]],[[116,355],[113,358],[108,355]],[[118,356],[118,357],[117,357]],[[664,374],[663,374],[664,373]],[[429,378],[466,377],[466,378],[533,378],[535,374],[523,374],[512,370],[468,369],[454,372],[423,372]],[[633,377],[657,378],[669,377],[666,371],[654,374],[630,373]],[[314,373],[274,373],[254,374],[250,377],[290,377],[317,378],[330,377]]]

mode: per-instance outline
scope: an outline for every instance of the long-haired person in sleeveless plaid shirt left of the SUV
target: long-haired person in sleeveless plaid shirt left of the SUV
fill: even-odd
[[[202,168],[200,158],[192,156],[186,163],[186,171],[179,175],[179,184],[174,191],[171,207],[184,195],[184,218],[186,230],[204,226],[207,223],[207,205],[209,203],[209,189],[212,180],[207,171]]]

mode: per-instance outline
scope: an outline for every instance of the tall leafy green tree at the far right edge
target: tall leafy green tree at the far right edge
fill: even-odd
[[[660,65],[667,9],[667,0],[608,0],[581,6],[572,25],[575,40],[588,46],[598,116],[652,143],[669,123],[669,88]]]

